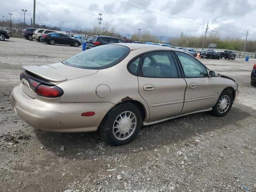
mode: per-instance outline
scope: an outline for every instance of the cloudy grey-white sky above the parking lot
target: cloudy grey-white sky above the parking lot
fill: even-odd
[[[1,4],[0,15],[12,21],[33,16],[33,0],[8,0]],[[162,40],[185,36],[204,35],[209,29],[220,32],[222,38],[256,40],[255,0],[36,0],[36,23],[58,26],[62,30],[88,30],[102,25],[115,28],[123,36],[150,32]]]

